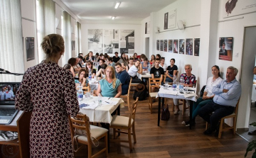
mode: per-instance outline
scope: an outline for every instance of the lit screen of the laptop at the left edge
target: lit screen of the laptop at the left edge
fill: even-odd
[[[14,105],[20,82],[0,82],[0,105]]]

